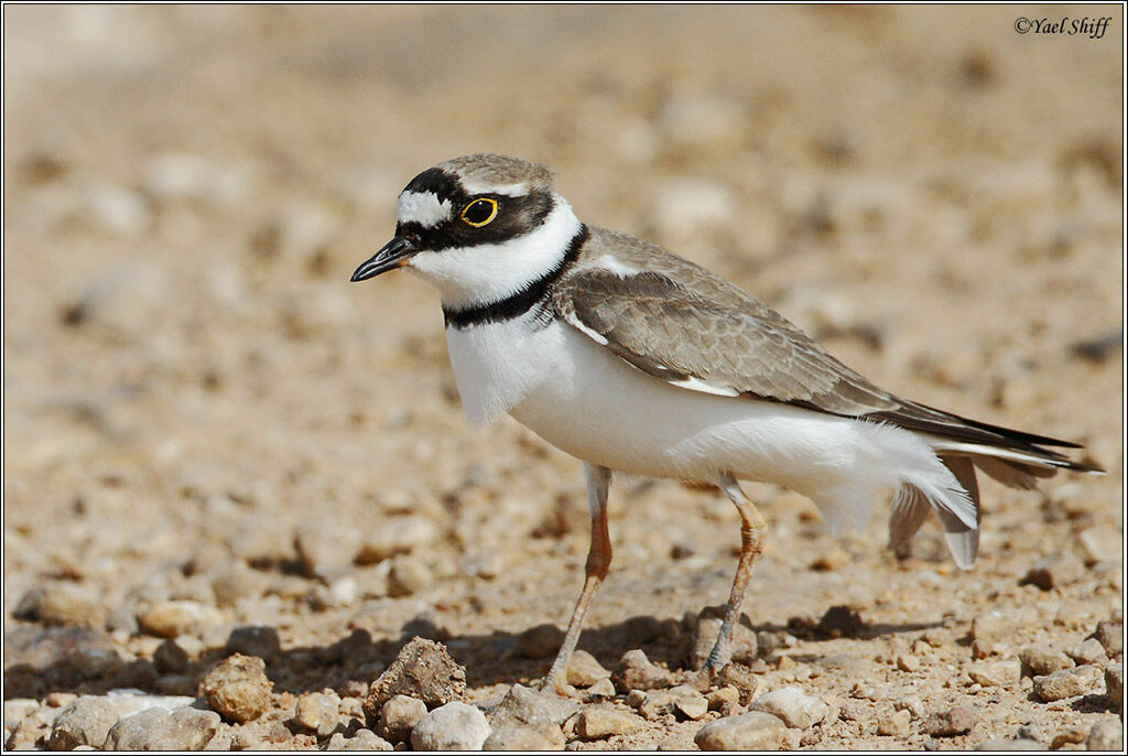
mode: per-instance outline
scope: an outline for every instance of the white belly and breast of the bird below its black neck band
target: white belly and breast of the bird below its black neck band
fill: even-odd
[[[835,524],[864,520],[904,480],[951,480],[915,434],[875,423],[670,386],[571,326],[448,331],[472,421],[509,412],[553,446],[611,469],[715,482],[731,472],[810,496]]]

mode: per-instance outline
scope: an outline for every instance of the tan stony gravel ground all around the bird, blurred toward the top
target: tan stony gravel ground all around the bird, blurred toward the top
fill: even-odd
[[[6,6],[7,746],[1120,748],[1123,15],[1023,10]],[[473,151],[1109,474],[982,482],[968,572],[750,484],[705,692],[737,515],[620,481],[576,695],[538,695],[580,465],[467,427],[424,283],[347,283]]]

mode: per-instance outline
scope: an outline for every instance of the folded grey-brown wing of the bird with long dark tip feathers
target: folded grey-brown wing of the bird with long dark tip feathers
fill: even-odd
[[[900,399],[726,281],[669,253],[647,262],[652,270],[628,275],[598,264],[580,265],[555,288],[556,311],[636,368],[686,388],[889,422],[950,439],[1022,449],[1051,464],[1074,466],[1037,446],[1074,443]]]

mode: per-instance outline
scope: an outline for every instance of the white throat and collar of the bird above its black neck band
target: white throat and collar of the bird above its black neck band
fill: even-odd
[[[556,267],[581,223],[572,205],[558,194],[539,228],[501,244],[483,244],[421,252],[407,270],[439,289],[449,309],[500,301]]]

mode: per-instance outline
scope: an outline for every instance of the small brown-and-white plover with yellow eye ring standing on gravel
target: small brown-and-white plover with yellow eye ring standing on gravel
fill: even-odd
[[[955,563],[979,544],[977,471],[1033,489],[1102,472],[1081,446],[962,417],[879,388],[760,299],[662,247],[583,223],[548,167],[477,153],[440,162],[397,200],[393,239],[352,281],[406,269],[439,290],[450,364],[472,425],[509,414],[583,466],[584,583],[543,686],[566,692],[584,616],[611,562],[615,473],[717,487],[741,550],[719,636],[731,658],[767,524],[740,481],[809,498],[861,527],[892,491],[889,545],[934,513]]]

